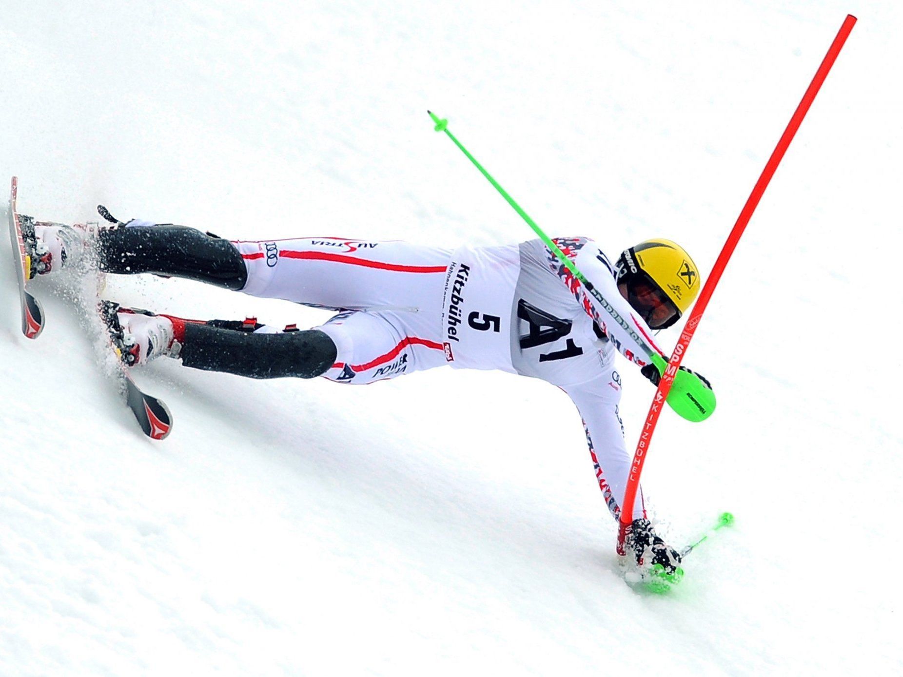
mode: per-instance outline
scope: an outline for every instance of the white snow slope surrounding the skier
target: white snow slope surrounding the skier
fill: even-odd
[[[848,12],[685,360],[719,409],[667,414],[650,452],[672,542],[737,515],[680,589],[619,577],[550,385],[161,360],[137,375],[174,416],[155,443],[63,283],[35,281],[47,328],[21,336],[0,256],[0,674],[903,672],[898,3],[14,0],[0,177],[66,221],[101,202],[235,238],[527,239],[430,107],[550,233],[671,237],[708,271]],[[180,280],[107,294],[326,317]],[[624,382],[632,446],[652,389]]]

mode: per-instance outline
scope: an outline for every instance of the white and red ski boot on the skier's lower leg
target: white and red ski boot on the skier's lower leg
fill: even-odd
[[[169,317],[123,308],[113,301],[100,302],[100,317],[107,324],[116,355],[126,366],[144,365],[162,355],[179,357],[182,345],[174,338]]]

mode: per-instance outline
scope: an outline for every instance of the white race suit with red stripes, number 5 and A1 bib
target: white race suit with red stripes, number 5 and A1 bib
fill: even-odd
[[[630,457],[614,356],[650,359],[540,240],[455,251],[343,237],[236,241],[243,292],[340,311],[318,329],[337,348],[324,375],[347,384],[450,365],[533,376],[570,395],[612,515]],[[584,237],[555,240],[601,296],[658,350],[623,299],[609,259]],[[658,350],[661,354],[661,350]],[[645,517],[640,500],[633,518]]]

